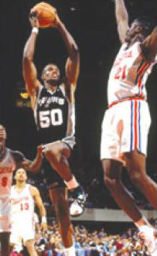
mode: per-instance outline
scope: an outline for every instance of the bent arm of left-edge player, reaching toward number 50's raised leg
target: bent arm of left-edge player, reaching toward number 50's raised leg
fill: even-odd
[[[42,155],[42,146],[39,146],[37,149],[36,159],[33,161],[30,161],[29,159],[26,159],[24,155],[22,155],[21,152],[12,152],[16,168],[23,168],[27,169],[30,172],[39,172],[39,168],[42,164],[43,155]]]

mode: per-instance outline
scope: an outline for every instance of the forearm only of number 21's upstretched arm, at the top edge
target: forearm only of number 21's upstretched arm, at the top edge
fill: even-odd
[[[114,0],[114,2],[115,2],[115,16],[117,19],[117,23],[124,20],[128,22],[128,12],[125,7],[124,0]]]

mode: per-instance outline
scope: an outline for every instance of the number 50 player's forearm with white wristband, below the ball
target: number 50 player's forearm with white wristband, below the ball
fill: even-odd
[[[38,28],[33,28],[31,35],[29,36],[29,39],[26,42],[26,46],[24,48],[23,52],[23,60],[33,60],[34,52],[35,52],[35,47],[36,47],[36,37],[38,33]]]

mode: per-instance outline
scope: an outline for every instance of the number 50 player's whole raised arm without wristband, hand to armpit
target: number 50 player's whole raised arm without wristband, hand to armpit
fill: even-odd
[[[77,46],[77,43],[73,39],[73,36],[70,35],[70,32],[67,31],[67,28],[64,26],[63,22],[60,21],[58,15],[56,15],[56,26],[59,30],[63,41],[66,44],[67,52],[69,57],[66,63],[66,78],[67,85],[72,85],[75,89],[77,84],[77,79],[80,72],[80,53]]]

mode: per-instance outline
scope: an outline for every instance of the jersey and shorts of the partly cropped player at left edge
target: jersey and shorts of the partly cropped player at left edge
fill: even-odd
[[[11,230],[10,193],[12,172],[15,169],[12,151],[9,148],[5,150],[4,159],[0,162],[0,233]]]

